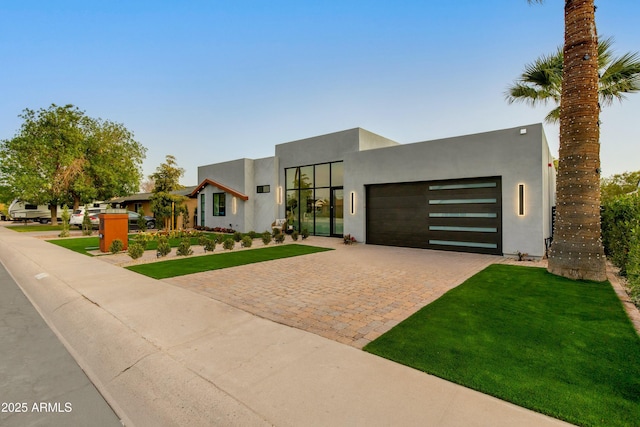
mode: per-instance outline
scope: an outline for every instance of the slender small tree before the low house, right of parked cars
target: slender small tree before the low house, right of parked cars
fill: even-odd
[[[176,212],[182,209],[186,197],[175,194],[175,191],[184,187],[180,185],[180,178],[184,175],[184,169],[178,167],[176,158],[167,155],[165,162],[156,168],[155,173],[149,179],[155,182],[153,194],[150,197],[151,211],[156,221],[164,224],[164,228],[174,226],[173,218]]]

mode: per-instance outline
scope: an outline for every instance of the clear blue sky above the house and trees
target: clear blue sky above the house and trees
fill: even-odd
[[[74,104],[197,167],[362,127],[400,143],[542,122],[508,105],[562,44],[563,2],[0,0],[0,139],[25,108]],[[640,50],[638,0],[596,1],[598,31]],[[602,115],[603,175],[640,170],[640,94]],[[558,128],[545,125],[554,155]]]

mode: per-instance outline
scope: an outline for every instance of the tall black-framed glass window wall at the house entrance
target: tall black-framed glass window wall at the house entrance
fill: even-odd
[[[298,231],[306,229],[316,236],[334,234],[332,223],[338,219],[336,206],[332,205],[331,190],[342,188],[343,176],[343,162],[286,168],[286,216],[289,225]],[[341,204],[339,209],[341,212]]]

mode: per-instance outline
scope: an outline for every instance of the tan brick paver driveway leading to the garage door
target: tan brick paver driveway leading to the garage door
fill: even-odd
[[[312,255],[165,279],[274,322],[357,348],[502,258],[342,244]]]

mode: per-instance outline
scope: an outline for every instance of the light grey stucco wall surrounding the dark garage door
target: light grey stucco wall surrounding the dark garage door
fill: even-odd
[[[358,205],[355,215],[345,215],[344,232],[366,239],[365,185],[501,176],[504,253],[542,256],[550,235],[548,156],[541,124],[348,153],[344,190],[346,197],[355,191]],[[526,186],[525,216],[517,215],[520,183]]]

